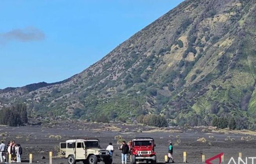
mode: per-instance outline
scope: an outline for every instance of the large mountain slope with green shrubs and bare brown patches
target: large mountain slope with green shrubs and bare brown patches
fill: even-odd
[[[68,80],[0,91],[0,105],[89,120],[161,114],[172,125],[232,117],[254,129],[255,2],[186,0]]]

